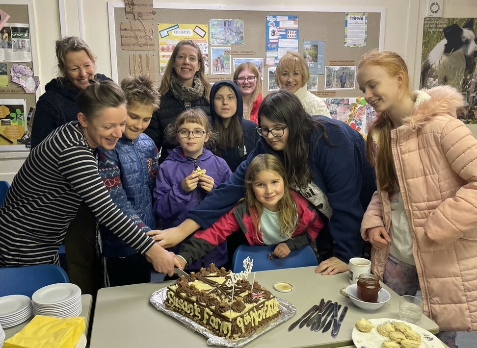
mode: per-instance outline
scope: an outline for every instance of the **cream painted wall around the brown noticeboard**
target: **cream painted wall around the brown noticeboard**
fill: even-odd
[[[98,56],[98,72],[111,76],[109,58],[109,28],[107,0],[33,0],[38,43],[38,60],[41,89],[56,76],[54,61],[54,41],[61,37],[59,3],[64,4],[64,35],[79,35],[82,28],[83,39]],[[119,1],[122,2],[122,1]],[[155,1],[157,5],[163,0]],[[207,5],[227,6],[236,5],[236,0],[176,0],[177,8],[200,8]],[[422,26],[425,17],[426,0],[261,0],[264,8],[287,10],[306,10],[308,7],[320,10],[360,11],[361,8],[385,8],[386,24],[384,50],[393,50],[401,54],[409,65],[413,75],[413,85],[419,85],[419,70],[421,64]],[[1,0],[0,0],[1,3]],[[241,0],[240,6],[256,8],[256,0]],[[299,7],[297,3],[300,3]],[[359,3],[359,6],[358,6]],[[168,3],[168,6],[171,4]],[[80,11],[78,10],[80,6]],[[477,17],[476,0],[444,0],[444,17]],[[159,10],[167,11],[167,10]],[[79,19],[79,13],[81,18]],[[0,154],[0,180],[11,182],[13,176],[22,165],[24,158],[2,158],[25,154]]]

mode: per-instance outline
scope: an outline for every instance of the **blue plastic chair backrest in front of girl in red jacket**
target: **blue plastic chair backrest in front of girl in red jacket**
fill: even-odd
[[[310,246],[291,251],[284,258],[268,259],[268,255],[273,252],[275,246],[248,246],[241,245],[235,250],[232,258],[232,272],[244,271],[243,260],[250,256],[253,259],[252,271],[280,270],[284,268],[318,266],[315,252]]]

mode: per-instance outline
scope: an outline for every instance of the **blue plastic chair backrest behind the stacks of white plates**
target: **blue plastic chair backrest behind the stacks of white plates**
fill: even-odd
[[[66,272],[56,265],[32,265],[0,268],[0,297],[26,295],[56,283],[69,283]]]

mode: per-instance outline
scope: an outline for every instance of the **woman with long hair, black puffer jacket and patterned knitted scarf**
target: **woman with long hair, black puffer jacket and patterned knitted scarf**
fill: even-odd
[[[201,108],[211,114],[209,94],[211,86],[205,75],[205,62],[197,44],[191,40],[179,42],[167,62],[160,81],[160,107],[153,114],[151,124],[145,130],[160,151],[159,164],[168,154],[168,150],[177,146],[175,139],[167,139],[164,129],[174,124],[183,111]]]

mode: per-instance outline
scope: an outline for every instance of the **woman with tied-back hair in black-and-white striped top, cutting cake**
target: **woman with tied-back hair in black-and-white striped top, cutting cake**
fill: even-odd
[[[0,208],[0,267],[58,264],[58,248],[83,200],[98,222],[172,274],[174,259],[112,202],[98,175],[95,149],[114,149],[126,123],[125,96],[111,81],[82,90],[78,121],[31,150]]]

